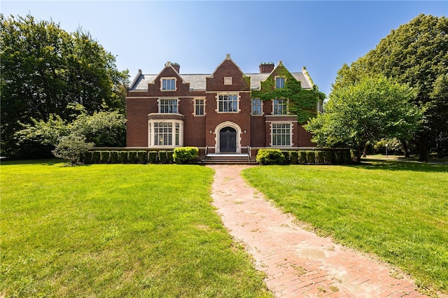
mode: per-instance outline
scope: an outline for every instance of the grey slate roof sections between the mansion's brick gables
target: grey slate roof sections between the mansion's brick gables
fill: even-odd
[[[246,76],[251,78],[251,90],[260,89],[260,82],[267,79],[270,73],[246,73]],[[311,83],[305,78],[303,73],[291,73],[302,84],[302,88],[310,89]],[[158,74],[137,74],[130,86],[130,90],[148,90],[148,83],[153,83]],[[184,83],[190,83],[190,90],[206,90],[206,78],[210,74],[181,74]]]

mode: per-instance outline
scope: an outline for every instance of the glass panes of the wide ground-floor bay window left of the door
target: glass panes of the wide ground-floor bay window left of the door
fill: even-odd
[[[178,122],[153,122],[149,124],[149,138],[154,146],[179,146],[180,130]]]

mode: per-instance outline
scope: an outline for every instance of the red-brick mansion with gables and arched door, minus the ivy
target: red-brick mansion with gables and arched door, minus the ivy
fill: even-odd
[[[228,55],[211,75],[179,71],[179,64],[170,62],[158,75],[139,71],[127,91],[127,147],[207,146],[211,153],[241,153],[247,146],[314,146],[296,115],[274,108],[274,99],[251,99],[251,90],[276,75],[274,64],[260,64],[260,73],[245,74]],[[291,74],[302,87],[312,87],[307,73]]]

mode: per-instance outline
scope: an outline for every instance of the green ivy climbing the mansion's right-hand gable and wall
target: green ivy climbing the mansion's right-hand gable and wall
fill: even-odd
[[[275,77],[285,78],[283,88],[275,87]],[[262,101],[272,99],[289,99],[289,113],[297,115],[299,123],[305,123],[311,117],[316,117],[316,106],[318,101],[325,99],[325,94],[320,92],[316,85],[311,90],[302,89],[300,82],[282,65],[277,66],[274,76],[261,82],[260,90],[252,90],[251,98],[259,98]]]

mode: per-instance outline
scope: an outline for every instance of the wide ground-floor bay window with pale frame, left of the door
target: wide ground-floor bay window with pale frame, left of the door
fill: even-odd
[[[160,124],[162,132],[156,132],[156,126]],[[165,132],[165,124],[167,124]],[[169,127],[171,124],[171,127]],[[160,129],[160,127],[158,127]],[[162,137],[160,137],[162,134]],[[169,139],[171,134],[171,143],[165,142],[166,138]],[[155,139],[157,136],[157,140]],[[165,138],[166,137],[166,138]],[[160,142],[162,140],[162,142]],[[181,120],[149,120],[148,121],[148,147],[149,148],[176,148],[183,146],[183,121]]]

